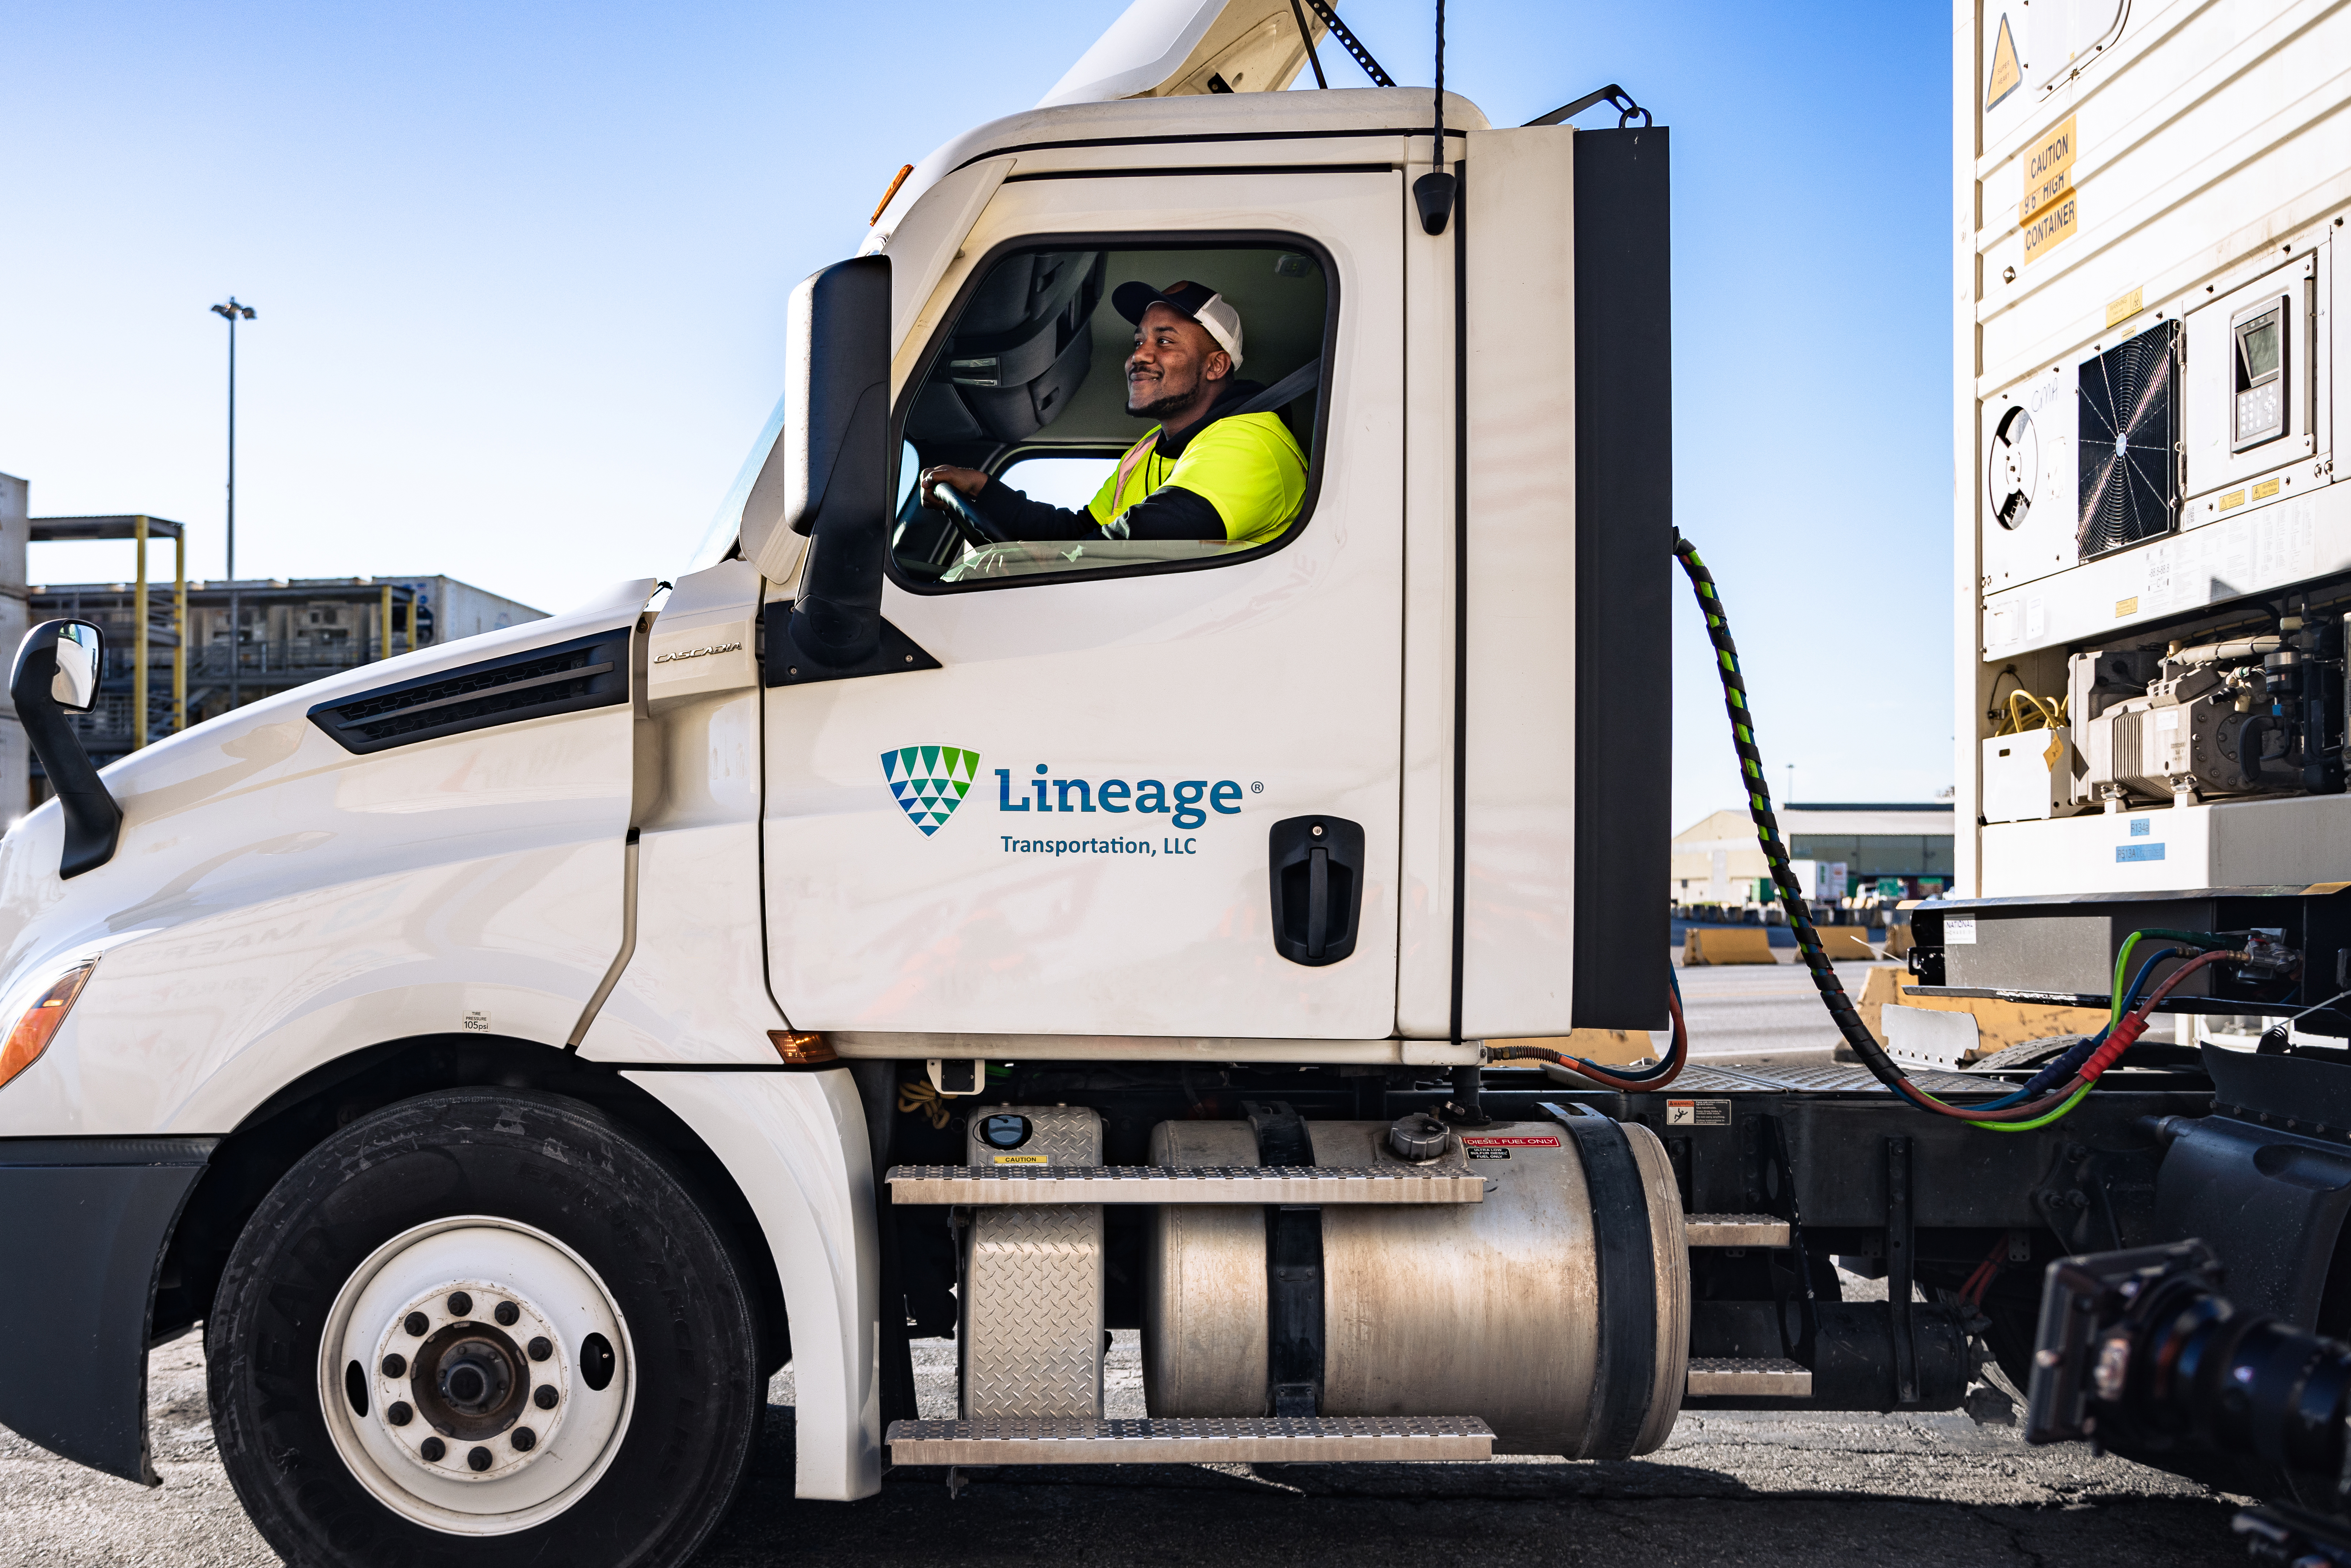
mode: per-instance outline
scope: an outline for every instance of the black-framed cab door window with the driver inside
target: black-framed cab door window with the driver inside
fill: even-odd
[[[978,273],[903,404],[893,576],[917,592],[1124,576],[1220,564],[1293,538],[1317,489],[1328,374],[1314,371],[1335,306],[1319,249],[1058,244],[997,256]],[[1119,292],[1178,282],[1218,296],[1213,320],[1227,336],[1239,324],[1241,355],[1206,418],[1145,447],[1164,386],[1128,388],[1140,329]],[[990,477],[964,515],[926,505],[912,482],[943,463]]]

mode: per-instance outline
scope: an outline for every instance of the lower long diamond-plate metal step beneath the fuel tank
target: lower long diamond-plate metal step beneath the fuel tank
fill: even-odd
[[[1281,1465],[1488,1460],[1474,1415],[1239,1415],[1154,1420],[893,1420],[891,1465]]]

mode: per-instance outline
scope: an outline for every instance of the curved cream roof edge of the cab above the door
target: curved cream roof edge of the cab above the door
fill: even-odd
[[[955,169],[987,155],[1018,150],[1023,172],[1053,167],[1056,143],[1121,141],[1133,143],[1133,162],[1173,162],[1168,153],[1152,143],[1183,146],[1201,136],[1218,139],[1307,139],[1314,134],[1361,136],[1366,132],[1392,132],[1399,136],[1429,134],[1427,87],[1333,87],[1328,92],[1234,92],[1211,96],[1173,99],[1114,99],[1110,103],[1063,103],[1056,108],[1027,108],[978,125],[955,141],[943,143],[905,176],[898,195],[889,200],[860,256],[870,256],[889,244],[900,219],[915,209],[938,181]],[[1491,129],[1486,113],[1469,99],[1446,94],[1448,139],[1467,132]],[[1453,148],[1448,158],[1458,158]],[[1307,160],[1300,160],[1307,162]]]

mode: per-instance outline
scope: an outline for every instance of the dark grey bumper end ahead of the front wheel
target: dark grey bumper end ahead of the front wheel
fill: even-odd
[[[155,1269],[219,1138],[0,1140],[0,1425],[158,1486],[146,1441]]]

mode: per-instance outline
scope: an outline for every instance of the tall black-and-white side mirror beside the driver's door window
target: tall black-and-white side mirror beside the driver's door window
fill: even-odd
[[[882,562],[898,463],[889,444],[889,256],[837,261],[792,289],[783,433],[743,505],[743,552],[781,578],[809,536],[790,649],[792,679],[877,675]]]

